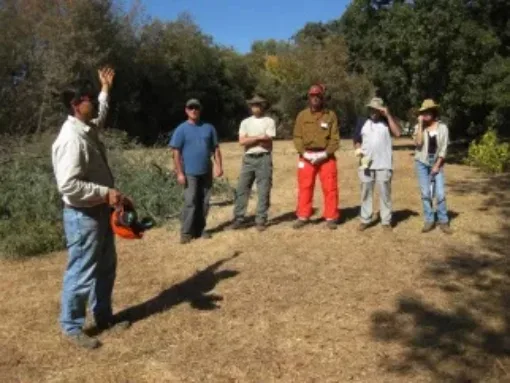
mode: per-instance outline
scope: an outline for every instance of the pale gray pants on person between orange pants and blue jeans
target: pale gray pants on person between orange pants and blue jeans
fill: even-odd
[[[381,223],[391,224],[391,170],[363,170],[358,174],[361,181],[361,212],[360,218],[363,223],[372,221],[374,184],[378,185],[380,194]]]

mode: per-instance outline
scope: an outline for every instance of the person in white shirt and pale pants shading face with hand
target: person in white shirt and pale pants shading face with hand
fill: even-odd
[[[381,223],[384,229],[392,228],[391,178],[393,175],[393,134],[400,136],[400,126],[390,114],[384,101],[375,97],[367,105],[369,118],[358,126],[354,134],[356,156],[361,181],[360,231],[372,223],[374,184],[379,187]]]

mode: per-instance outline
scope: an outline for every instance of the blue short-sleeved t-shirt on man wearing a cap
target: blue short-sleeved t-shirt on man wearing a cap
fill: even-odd
[[[175,129],[170,147],[181,152],[183,170],[186,175],[200,176],[211,171],[211,154],[218,146],[218,135],[211,124],[188,121]]]

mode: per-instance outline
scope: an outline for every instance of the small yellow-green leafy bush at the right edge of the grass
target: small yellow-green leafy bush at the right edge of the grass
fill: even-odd
[[[496,131],[489,129],[471,143],[467,162],[488,173],[502,173],[510,168],[510,144],[501,142]]]

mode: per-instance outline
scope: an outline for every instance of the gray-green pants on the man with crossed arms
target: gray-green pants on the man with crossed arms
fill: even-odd
[[[257,224],[267,221],[270,206],[271,187],[273,185],[273,158],[271,154],[245,155],[239,182],[237,184],[234,218],[243,220],[248,208],[248,200],[254,181],[257,181],[258,203]]]

